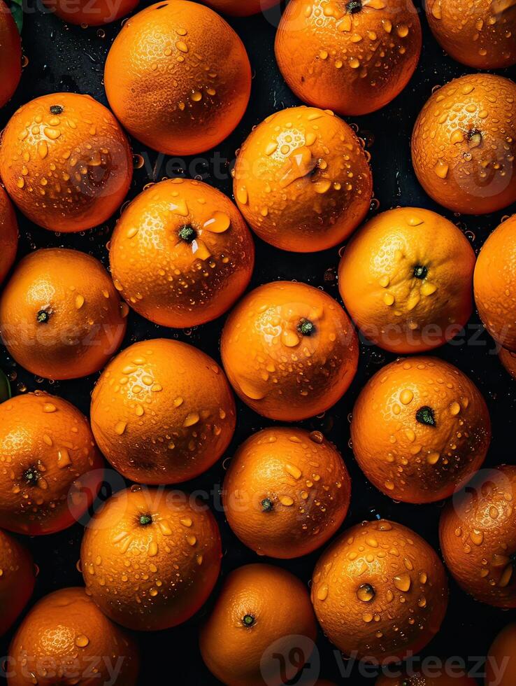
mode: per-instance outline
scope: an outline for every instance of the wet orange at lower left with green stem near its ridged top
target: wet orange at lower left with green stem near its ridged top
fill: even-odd
[[[88,593],[108,617],[138,631],[189,619],[210,595],[221,557],[207,505],[182,491],[147,486],[110,498],[80,551]]]

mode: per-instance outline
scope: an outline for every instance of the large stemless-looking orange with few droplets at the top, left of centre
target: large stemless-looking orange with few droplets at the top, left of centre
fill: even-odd
[[[193,155],[219,144],[241,120],[251,67],[222,17],[174,0],[125,22],[104,80],[115,115],[138,141],[169,155]]]

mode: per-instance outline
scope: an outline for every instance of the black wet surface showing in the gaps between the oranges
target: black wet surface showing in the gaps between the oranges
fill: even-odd
[[[241,1],[245,2],[245,0]],[[142,2],[140,8],[146,4],[151,3]],[[421,8],[421,1],[417,0],[416,5]],[[83,29],[65,25],[55,15],[42,10],[41,6],[36,6],[32,0],[29,1],[25,10],[22,40],[24,55],[29,62],[24,68],[22,81],[15,97],[0,111],[0,128],[6,124],[18,106],[34,97],[51,92],[87,93],[107,105],[103,89],[103,64],[113,38],[120,31],[122,20],[102,29],[95,27]],[[296,97],[283,83],[275,63],[273,42],[279,15],[280,8],[277,7],[270,10],[266,17],[257,15],[240,20],[229,19],[245,43],[253,73],[250,106],[234,134],[217,148],[217,153],[212,151],[198,158],[186,158],[182,161],[166,158],[145,149],[136,140],[131,141],[134,153],[143,156],[145,165],[135,170],[129,192],[130,198],[139,193],[150,181],[159,181],[166,176],[177,175],[187,177],[199,175],[204,181],[231,195],[229,175],[231,163],[236,149],[247,137],[251,127],[260,123],[275,110],[299,104]],[[415,76],[406,90],[380,112],[359,118],[346,118],[346,120],[353,124],[359,135],[366,140],[366,146],[371,152],[375,199],[377,199],[371,204],[371,214],[396,207],[396,205],[427,207],[439,211],[465,232],[473,248],[478,252],[489,232],[500,223],[503,216],[513,214],[516,207],[509,207],[505,211],[489,216],[454,215],[431,201],[417,183],[410,162],[410,134],[417,114],[434,88],[452,78],[473,71],[454,62],[443,53],[431,36],[424,13],[421,13],[421,18],[422,57]],[[511,76],[510,71],[508,69],[499,73]],[[513,78],[515,76],[514,69],[512,76]],[[106,243],[117,216],[114,216],[106,225],[94,230],[75,235],[59,235],[36,227],[18,214],[20,221],[18,258],[36,248],[66,246],[90,253],[107,266]],[[257,262],[251,288],[275,279],[297,279],[324,288],[327,293],[340,300],[336,282],[338,246],[322,253],[301,255],[279,251],[259,239],[256,239],[256,245]],[[223,323],[224,319],[221,318],[193,330],[171,330],[145,321],[131,311],[129,328],[122,347],[141,339],[173,337],[199,346],[220,361],[219,338]],[[479,326],[480,321],[475,314],[468,324],[466,335],[437,349],[435,354],[466,372],[485,395],[493,423],[493,440],[486,465],[514,463],[516,387],[501,367],[492,339],[485,332],[482,332],[480,337],[476,337]],[[472,337],[476,340],[473,341]],[[381,365],[392,359],[394,359],[393,355],[362,341],[359,370],[350,390],[324,416],[307,420],[303,422],[303,426],[310,430],[322,430],[330,440],[334,441],[342,451],[347,468],[351,472],[352,503],[344,528],[364,519],[387,517],[414,528],[431,545],[438,547],[438,517],[443,503],[417,506],[394,503],[368,483],[348,447],[349,416],[354,400],[365,381]],[[89,411],[89,395],[98,374],[77,381],[52,382],[38,379],[16,365],[6,355],[3,348],[0,351],[0,367],[11,379],[13,394],[39,388],[62,395],[78,405],[85,413]],[[271,423],[238,402],[236,434],[227,451],[227,457],[233,454],[238,444],[250,433],[269,426]],[[218,493],[223,478],[224,460],[221,460],[206,474],[195,479],[192,484],[184,485],[185,489],[206,489],[212,494],[212,504],[216,505],[220,502]],[[106,497],[106,493],[110,493],[110,489],[118,489],[122,484],[122,477],[115,475],[113,479],[113,472],[111,472],[103,497]],[[258,558],[231,533],[224,514],[220,511],[220,505],[215,509],[224,549],[219,584],[223,582],[229,571],[242,564],[255,561],[271,561],[284,566],[308,584],[320,550],[291,561]],[[24,538],[40,570],[31,603],[55,589],[82,584],[82,577],[76,569],[82,535],[83,526],[76,524],[59,534]],[[206,606],[186,624],[169,631],[140,636],[143,653],[141,684],[159,683],[164,679],[178,684],[217,683],[203,665],[197,647],[197,633],[199,624],[202,624],[206,613],[210,610],[219,587],[220,585],[217,586]],[[485,655],[492,638],[510,621],[511,616],[513,613],[511,615],[509,612],[476,603],[451,581],[447,617],[440,633],[427,646],[424,655],[444,658],[460,656],[465,659]],[[8,636],[0,640],[0,656],[6,655],[12,635],[11,631]],[[317,646],[320,650],[322,678],[341,682],[342,678],[339,676],[338,664],[333,653],[334,648],[322,636],[322,633],[320,633]],[[473,665],[473,662],[471,664]],[[3,682],[1,677],[0,682]],[[362,678],[355,666],[352,672],[352,683],[364,682],[372,683],[373,680]]]

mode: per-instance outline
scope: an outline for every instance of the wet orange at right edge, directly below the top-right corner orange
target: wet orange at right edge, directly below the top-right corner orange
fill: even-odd
[[[417,118],[412,161],[422,187],[454,212],[489,214],[516,200],[516,84],[461,76],[430,97]]]

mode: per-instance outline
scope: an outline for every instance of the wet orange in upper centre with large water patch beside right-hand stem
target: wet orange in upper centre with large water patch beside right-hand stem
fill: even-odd
[[[357,228],[373,179],[353,130],[330,112],[301,106],[276,112],[252,131],[236,158],[233,190],[261,239],[312,253]]]

